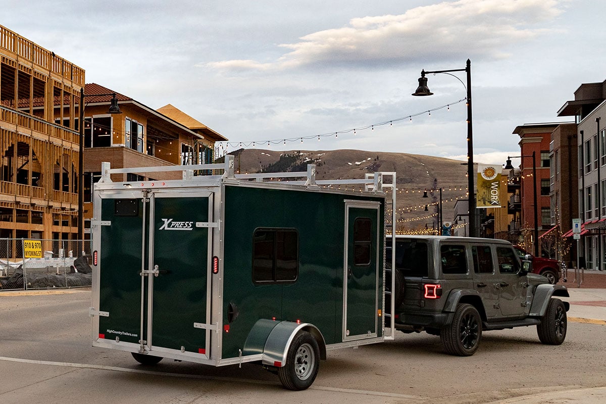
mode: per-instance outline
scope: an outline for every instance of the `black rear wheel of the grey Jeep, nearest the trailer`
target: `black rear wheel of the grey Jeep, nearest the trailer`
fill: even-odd
[[[442,327],[440,339],[446,351],[456,356],[471,356],[480,345],[482,319],[478,310],[463,303],[454,312],[452,323]]]

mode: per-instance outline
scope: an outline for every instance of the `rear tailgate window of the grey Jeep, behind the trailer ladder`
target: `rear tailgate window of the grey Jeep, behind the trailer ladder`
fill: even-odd
[[[387,239],[385,267],[391,268],[391,240]],[[396,269],[404,276],[428,276],[427,243],[418,240],[396,240]]]

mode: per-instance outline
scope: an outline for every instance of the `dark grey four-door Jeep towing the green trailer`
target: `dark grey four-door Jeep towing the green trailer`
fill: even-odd
[[[439,335],[445,350],[470,356],[482,331],[536,325],[539,340],[559,345],[566,337],[570,305],[565,286],[530,271],[511,243],[498,239],[396,236],[395,268],[387,239],[385,310],[396,329]],[[390,289],[390,288],[388,288]]]

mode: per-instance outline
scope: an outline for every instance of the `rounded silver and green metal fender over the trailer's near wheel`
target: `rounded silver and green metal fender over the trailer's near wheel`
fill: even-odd
[[[264,365],[282,367],[286,362],[286,354],[290,343],[299,331],[307,331],[318,342],[320,359],[326,359],[326,343],[324,337],[315,325],[291,321],[276,322],[273,320],[258,320],[250,330],[242,354],[263,354]]]

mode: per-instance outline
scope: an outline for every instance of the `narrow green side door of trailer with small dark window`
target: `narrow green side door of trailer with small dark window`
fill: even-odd
[[[379,202],[345,202],[343,340],[378,335]]]

